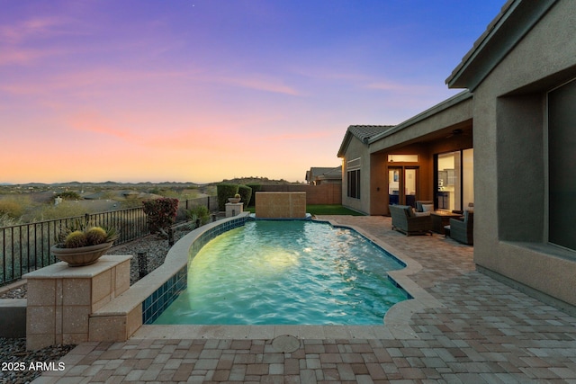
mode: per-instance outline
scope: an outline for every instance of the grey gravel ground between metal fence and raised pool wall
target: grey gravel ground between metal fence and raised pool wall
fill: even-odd
[[[178,241],[190,231],[186,226],[175,228],[174,240]],[[139,280],[138,253],[145,252],[148,259],[148,272],[164,263],[170,246],[165,238],[143,237],[121,246],[114,246],[109,255],[133,255],[130,263],[130,285]],[[0,299],[25,299],[26,284],[0,295]],[[41,374],[35,368],[37,363],[53,362],[72,350],[76,345],[55,345],[39,351],[26,351],[26,339],[6,339],[0,337],[0,383],[29,383]],[[31,365],[32,364],[32,365]]]

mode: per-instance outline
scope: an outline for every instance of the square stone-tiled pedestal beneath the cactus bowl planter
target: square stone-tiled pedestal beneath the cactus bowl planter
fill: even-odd
[[[60,262],[26,273],[26,347],[90,340],[89,317],[130,288],[130,255],[103,255],[98,262],[69,267]]]

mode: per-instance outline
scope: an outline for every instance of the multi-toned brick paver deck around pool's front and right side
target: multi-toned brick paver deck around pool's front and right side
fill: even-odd
[[[440,305],[406,311],[407,334],[329,338],[327,328],[300,335],[289,352],[273,343],[287,327],[261,328],[261,338],[260,328],[249,337],[226,337],[224,327],[189,337],[146,328],[125,343],[80,344],[62,359],[64,371],[33,382],[576,383],[576,318],[475,272],[472,247],[405,237],[383,217],[324,218],[421,265],[410,280]]]

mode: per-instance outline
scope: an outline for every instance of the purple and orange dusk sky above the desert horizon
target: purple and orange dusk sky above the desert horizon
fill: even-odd
[[[504,0],[0,0],[0,183],[304,181],[446,77]]]

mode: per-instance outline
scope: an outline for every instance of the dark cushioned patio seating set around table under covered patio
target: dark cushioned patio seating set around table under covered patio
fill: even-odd
[[[474,212],[469,210],[434,210],[434,201],[416,201],[410,205],[390,205],[392,229],[406,236],[428,235],[432,232],[446,235],[456,241],[473,246]]]

